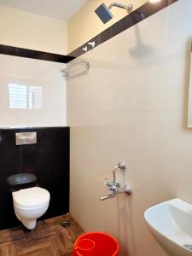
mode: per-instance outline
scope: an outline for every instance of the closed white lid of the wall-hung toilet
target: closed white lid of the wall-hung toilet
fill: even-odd
[[[49,191],[38,187],[20,189],[14,193],[14,201],[20,207],[38,206],[49,201],[49,198]]]

